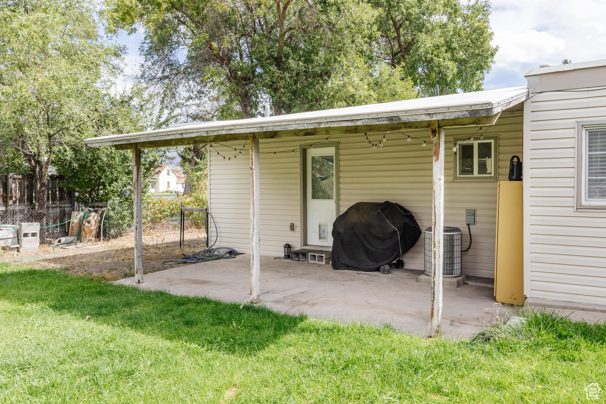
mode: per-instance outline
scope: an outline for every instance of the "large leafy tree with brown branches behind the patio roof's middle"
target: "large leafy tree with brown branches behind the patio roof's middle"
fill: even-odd
[[[144,28],[142,78],[193,108],[188,116],[251,118],[264,101],[279,115],[416,96],[405,80],[384,90],[402,72],[385,75],[385,63],[373,58],[378,11],[361,0],[105,5],[110,33]]]

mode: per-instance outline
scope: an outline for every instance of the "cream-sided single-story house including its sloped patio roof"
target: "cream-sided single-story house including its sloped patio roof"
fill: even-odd
[[[527,302],[606,310],[606,59],[525,76],[525,87],[181,124],[85,142],[121,150],[209,144],[208,208],[217,245],[251,252],[253,183],[260,252],[276,256],[285,243],[330,249],[333,220],[361,201],[397,202],[422,229],[430,226],[430,122],[437,121],[445,134],[444,225],[463,230],[464,248],[466,210],[476,213],[462,272],[494,277],[501,243],[516,245],[524,259],[515,280]],[[258,164],[249,159],[249,145],[253,156],[259,150]],[[499,236],[497,249],[498,184],[507,181],[512,156],[524,162],[524,223],[519,234]],[[310,168],[314,158],[332,170],[322,173],[322,181],[334,181],[330,197],[313,197],[310,184],[320,177]],[[170,180],[161,182],[164,190]],[[513,216],[521,220],[520,210]],[[423,237],[402,258],[406,268],[422,270]]]

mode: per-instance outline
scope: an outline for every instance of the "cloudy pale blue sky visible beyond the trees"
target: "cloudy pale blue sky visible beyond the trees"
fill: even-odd
[[[524,69],[540,64],[606,59],[606,0],[493,0],[490,24],[499,51],[486,90],[526,85]],[[125,76],[135,74],[142,36],[115,39],[128,48]]]

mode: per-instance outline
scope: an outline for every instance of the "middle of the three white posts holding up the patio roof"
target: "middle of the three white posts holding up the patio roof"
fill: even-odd
[[[259,139],[254,133],[248,135],[250,150],[250,301],[259,303]]]

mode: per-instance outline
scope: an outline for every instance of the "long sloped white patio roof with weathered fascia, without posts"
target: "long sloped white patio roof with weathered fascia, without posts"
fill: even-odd
[[[442,127],[487,125],[527,96],[526,87],[510,87],[265,118],[176,124],[165,129],[92,137],[84,143],[87,147],[112,145],[127,149],[135,145],[167,147],[248,139],[249,133],[266,139],[429,127],[432,120],[439,120]]]

